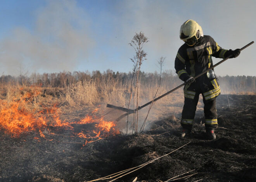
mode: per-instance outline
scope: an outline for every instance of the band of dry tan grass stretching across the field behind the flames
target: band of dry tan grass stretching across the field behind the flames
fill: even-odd
[[[139,106],[151,101],[156,94],[158,87],[157,81],[151,83],[141,84],[139,87]],[[165,94],[169,90],[178,86],[178,83],[163,84],[157,94],[157,97]],[[133,88],[134,89],[134,88]],[[22,104],[28,111],[39,111],[42,105],[53,105],[55,103],[61,104],[62,109],[66,112],[72,112],[74,108],[92,110],[98,105],[102,104],[102,108],[106,108],[106,104],[128,107],[130,98],[131,85],[130,81],[124,83],[116,79],[106,78],[105,80],[89,80],[87,82],[77,82],[65,88],[42,88],[42,87],[26,87],[17,83],[1,85],[0,99],[10,103],[14,100],[21,100],[26,94],[28,98]],[[224,93],[225,94],[225,89]],[[255,92],[229,92],[229,94],[239,95],[255,95]],[[178,115],[183,107],[183,90],[179,89],[167,95],[166,97],[157,100],[151,111],[150,121],[159,119],[161,117],[171,117],[173,114]],[[130,108],[133,108],[133,100]],[[202,97],[200,96],[197,109],[202,109]],[[139,111],[141,117],[147,113],[148,107]],[[105,112],[105,111],[104,111]],[[108,110],[106,110],[108,112]],[[131,117],[132,118],[132,117]],[[143,120],[143,119],[142,119]]]

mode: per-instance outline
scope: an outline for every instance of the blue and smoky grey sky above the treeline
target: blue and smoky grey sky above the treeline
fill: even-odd
[[[0,74],[132,71],[128,44],[144,33],[141,70],[174,70],[180,26],[193,19],[224,49],[256,40],[255,0],[0,0]],[[214,68],[256,76],[256,44]],[[216,64],[221,59],[213,58]]]

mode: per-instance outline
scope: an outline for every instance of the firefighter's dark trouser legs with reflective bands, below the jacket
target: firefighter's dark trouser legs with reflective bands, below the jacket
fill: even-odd
[[[182,110],[182,121],[181,121],[181,125],[185,129],[190,129],[190,130],[192,129],[198,100],[199,100],[199,93],[195,94],[194,99],[185,97],[184,106]],[[206,130],[214,130],[218,127],[216,97],[206,101],[203,95],[203,102],[204,102],[205,128]]]

